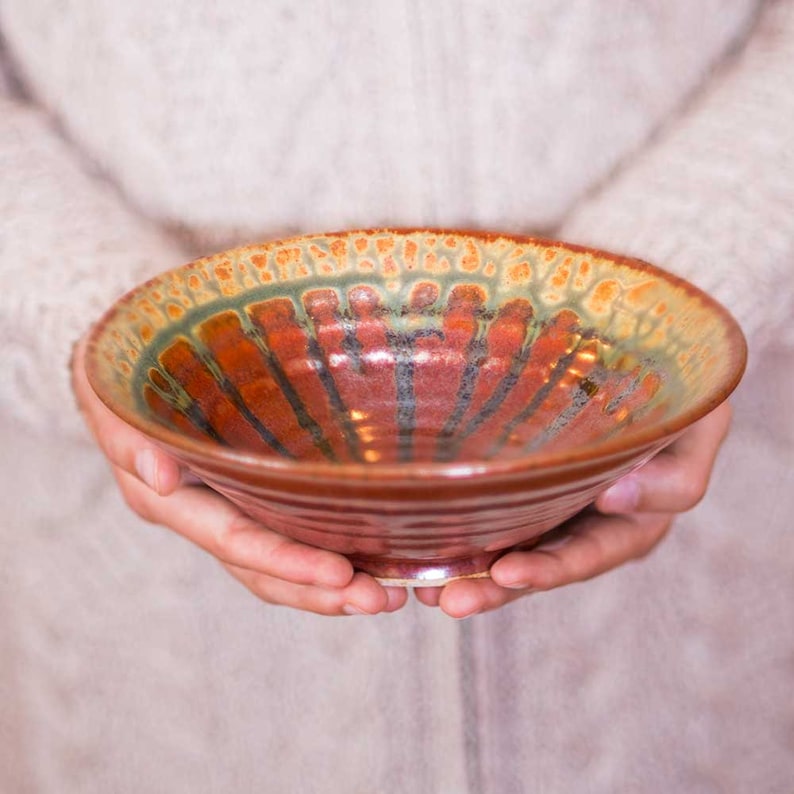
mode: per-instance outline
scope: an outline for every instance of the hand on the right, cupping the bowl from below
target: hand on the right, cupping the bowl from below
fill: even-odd
[[[464,618],[644,557],[667,534],[675,515],[703,498],[730,420],[731,409],[723,403],[641,469],[602,493],[593,508],[550,533],[541,545],[497,560],[490,579],[418,589],[417,598]]]

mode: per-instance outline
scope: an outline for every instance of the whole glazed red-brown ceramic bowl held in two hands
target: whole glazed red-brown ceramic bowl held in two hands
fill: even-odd
[[[745,343],[692,285],[561,242],[302,236],[138,287],[90,382],[262,524],[380,580],[487,575],[726,399]]]

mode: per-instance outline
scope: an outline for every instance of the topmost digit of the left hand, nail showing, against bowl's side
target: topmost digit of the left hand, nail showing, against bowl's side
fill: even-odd
[[[113,465],[162,496],[172,493],[183,480],[182,467],[97,397],[85,372],[85,345],[85,340],[81,340],[75,348],[72,383],[77,404],[97,443]]]

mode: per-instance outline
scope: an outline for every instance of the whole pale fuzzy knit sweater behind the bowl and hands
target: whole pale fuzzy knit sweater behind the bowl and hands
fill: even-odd
[[[794,2],[2,0],[0,26],[0,790],[790,792]],[[734,432],[657,553],[470,621],[330,620],[129,513],[72,406],[79,335],[208,246],[380,223],[559,232],[737,314]]]

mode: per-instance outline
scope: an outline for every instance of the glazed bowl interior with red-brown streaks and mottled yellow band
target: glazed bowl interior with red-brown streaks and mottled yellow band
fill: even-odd
[[[554,456],[716,405],[741,333],[694,287],[561,243],[370,231],[165,273],[94,331],[89,377],[170,444],[331,463]]]

